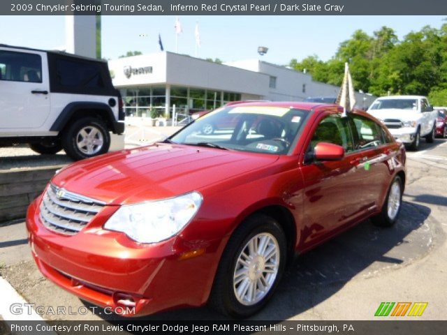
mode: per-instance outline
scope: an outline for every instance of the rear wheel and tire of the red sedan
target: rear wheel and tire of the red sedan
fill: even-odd
[[[381,212],[371,218],[374,225],[391,227],[395,224],[400,213],[400,208],[402,207],[403,189],[402,179],[396,176],[390,185]]]

